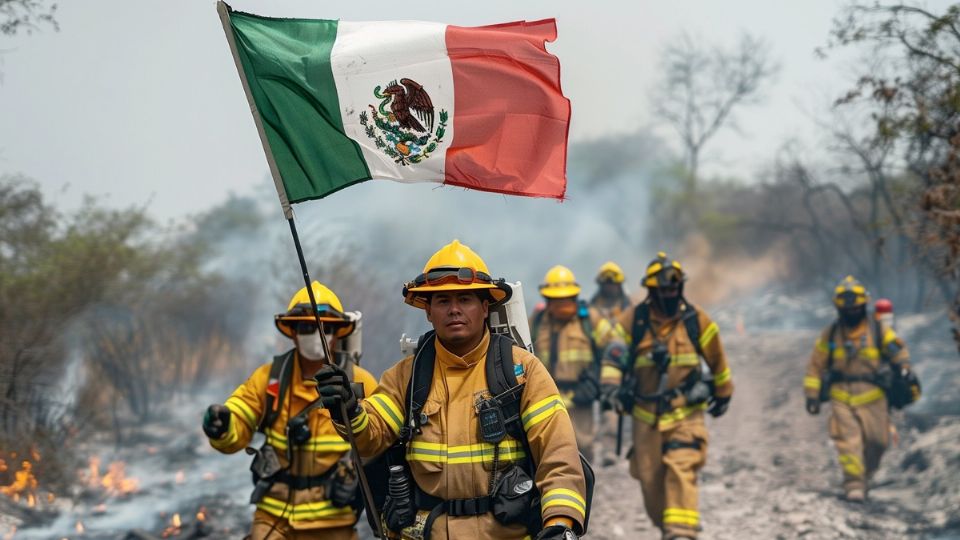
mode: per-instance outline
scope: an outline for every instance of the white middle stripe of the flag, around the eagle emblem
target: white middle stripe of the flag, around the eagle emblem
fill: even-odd
[[[364,160],[374,179],[384,178],[402,182],[442,182],[446,150],[453,140],[453,72],[447,56],[446,25],[418,21],[397,22],[344,22],[337,27],[337,39],[330,52],[333,78],[340,99],[340,115],[344,131],[355,140],[363,151]],[[380,91],[393,81],[411,79],[423,85],[433,103],[433,129],[429,142],[423,146],[398,145],[395,134],[376,127],[374,109],[391,112],[392,100],[378,98],[374,89]],[[383,95],[383,94],[381,94]],[[384,104],[384,102],[386,103]],[[437,142],[436,132],[440,126],[440,113],[447,116],[445,133]],[[366,113],[367,127],[361,125],[360,114]],[[378,113],[379,114],[379,113]],[[421,118],[413,112],[413,116]],[[426,121],[421,124],[429,129]],[[367,131],[373,126],[374,137]],[[394,124],[394,127],[396,124]],[[426,135],[409,128],[403,131],[420,137]],[[394,140],[391,140],[394,139]],[[377,146],[377,139],[387,148]],[[434,142],[436,148],[419,163],[405,159],[397,163],[387,152],[416,156]]]

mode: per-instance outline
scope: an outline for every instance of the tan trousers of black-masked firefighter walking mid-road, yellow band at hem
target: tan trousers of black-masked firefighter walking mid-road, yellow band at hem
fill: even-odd
[[[707,459],[707,429],[703,413],[681,420],[666,431],[633,421],[630,475],[640,480],[643,504],[665,539],[696,538],[697,473]]]

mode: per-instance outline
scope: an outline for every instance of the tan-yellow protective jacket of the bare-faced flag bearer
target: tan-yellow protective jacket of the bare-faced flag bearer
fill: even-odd
[[[456,356],[436,341],[433,381],[423,414],[428,422],[407,448],[407,462],[417,485],[441,499],[469,499],[489,494],[493,445],[482,442],[475,403],[490,397],[484,365],[489,332],[477,347]],[[362,402],[362,411],[351,422],[364,457],[384,452],[396,440],[405,417],[407,385],[413,357],[408,356],[384,372],[376,393]],[[525,384],[520,410],[533,461],[534,479],[541,494],[544,520],[567,516],[582,524],[583,470],[573,426],[557,392],[556,384],[539,360],[525,349],[513,348],[517,381]],[[337,426],[345,430],[344,426]],[[500,470],[504,464],[526,456],[521,441],[507,437],[500,443]],[[520,539],[527,535],[520,525],[504,526],[493,514],[449,518],[434,522],[434,539]]]

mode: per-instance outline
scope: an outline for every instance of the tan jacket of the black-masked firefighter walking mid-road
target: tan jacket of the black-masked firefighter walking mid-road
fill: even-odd
[[[727,365],[727,357],[723,352],[723,345],[720,343],[717,323],[713,322],[702,309],[689,304],[688,306],[688,309],[695,309],[697,313],[696,317],[700,325],[700,348],[703,350],[703,359],[713,374],[714,384],[716,385],[714,395],[730,397],[733,395],[733,379],[730,366]],[[690,340],[690,336],[687,335],[686,326],[680,317],[667,319],[657,310],[651,309],[650,328],[639,343],[634,343],[630,332],[633,329],[633,317],[636,309],[635,306],[623,312],[612,332],[612,341],[623,343],[628,351],[635,350],[637,353],[637,359],[633,365],[636,374],[634,392],[654,394],[657,391],[660,372],[650,356],[654,346],[654,336],[667,346],[667,354],[670,356],[670,363],[666,371],[666,389],[677,388],[683,384],[693,370],[700,369],[700,359],[696,347]],[[605,364],[600,374],[600,382],[619,385],[622,382],[622,376],[622,372],[615,365]],[[674,399],[671,406],[672,410],[658,417],[656,415],[656,404],[637,401],[632,412],[637,420],[655,425],[660,431],[666,431],[675,427],[678,422],[685,418],[702,415],[702,411],[707,408],[706,403],[687,405],[682,396]]]

